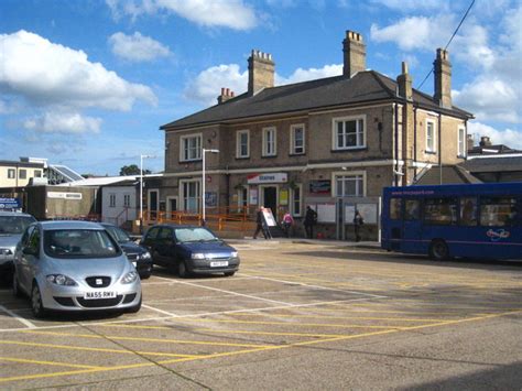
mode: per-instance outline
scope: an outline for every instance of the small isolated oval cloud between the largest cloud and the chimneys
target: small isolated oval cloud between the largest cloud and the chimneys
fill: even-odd
[[[172,54],[167,46],[139,32],[133,35],[115,33],[109,37],[109,44],[113,54],[131,62],[154,61]]]

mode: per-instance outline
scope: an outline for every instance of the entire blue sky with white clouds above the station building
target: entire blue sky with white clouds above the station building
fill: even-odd
[[[471,0],[2,0],[0,160],[46,158],[80,174],[164,169],[162,124],[247,90],[251,50],[276,85],[340,75],[346,30],[367,67],[414,88]],[[476,0],[448,46],[468,132],[522,150],[522,1]]]

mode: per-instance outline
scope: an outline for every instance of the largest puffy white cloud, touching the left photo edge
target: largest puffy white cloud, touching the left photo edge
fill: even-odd
[[[87,54],[19,31],[0,34],[0,91],[40,106],[130,110],[137,100],[155,105],[152,90],[129,83]]]

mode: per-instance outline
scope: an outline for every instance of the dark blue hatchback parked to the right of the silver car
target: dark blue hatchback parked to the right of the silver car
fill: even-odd
[[[141,245],[152,253],[155,264],[176,270],[181,278],[214,273],[230,276],[239,269],[236,249],[204,227],[157,225],[146,231]]]

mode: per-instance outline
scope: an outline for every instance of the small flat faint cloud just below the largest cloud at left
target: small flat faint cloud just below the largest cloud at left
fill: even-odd
[[[101,119],[84,117],[77,112],[46,112],[40,117],[33,117],[22,121],[25,130],[42,133],[99,133]]]

